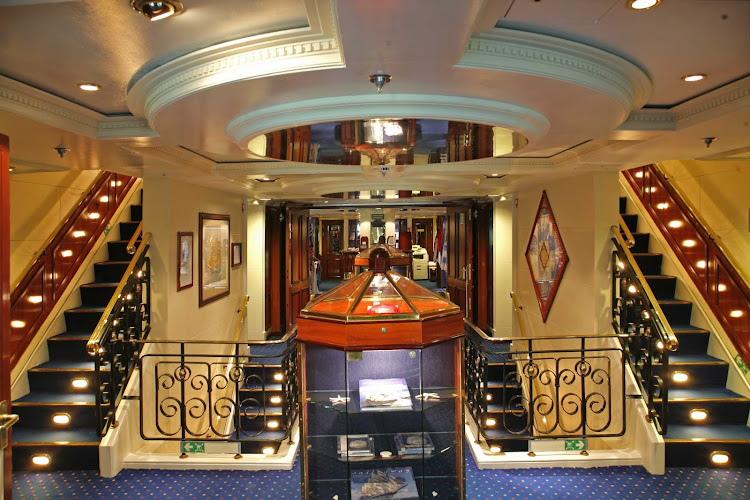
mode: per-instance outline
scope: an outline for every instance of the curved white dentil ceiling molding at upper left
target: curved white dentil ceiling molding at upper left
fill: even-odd
[[[196,92],[254,78],[346,66],[336,0],[306,0],[310,26],[221,43],[163,64],[134,82],[128,106],[149,122]]]

